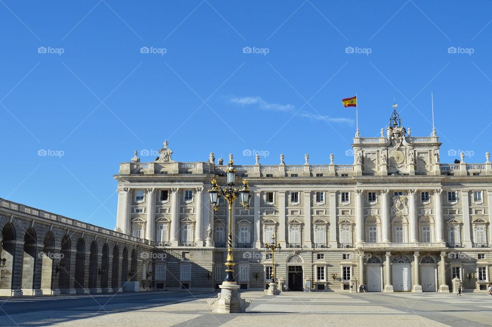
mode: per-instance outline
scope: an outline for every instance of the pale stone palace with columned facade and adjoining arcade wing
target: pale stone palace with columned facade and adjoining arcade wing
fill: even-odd
[[[211,180],[247,179],[249,209],[233,208],[234,278],[262,290],[449,292],[490,281],[492,163],[440,161],[439,137],[416,137],[394,111],[379,137],[356,134],[352,165],[176,161],[168,142],[151,162],[119,165],[115,230],[0,199],[1,295],[213,290],[224,279],[228,207]]]

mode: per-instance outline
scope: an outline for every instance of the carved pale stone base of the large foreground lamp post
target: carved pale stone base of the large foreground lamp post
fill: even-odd
[[[245,313],[251,304],[249,299],[241,299],[239,285],[236,282],[222,282],[219,285],[220,293],[216,299],[209,299],[207,303],[212,306],[213,313]]]

